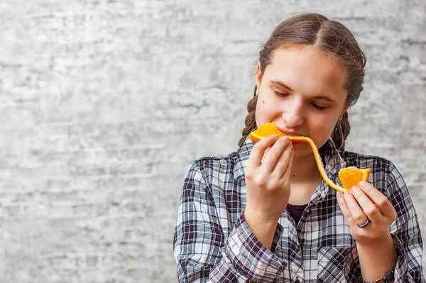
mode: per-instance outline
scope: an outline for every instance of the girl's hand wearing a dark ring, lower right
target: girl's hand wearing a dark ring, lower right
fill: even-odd
[[[345,193],[337,192],[337,201],[348,220],[352,237],[361,245],[370,245],[389,234],[396,211],[388,198],[370,183],[360,182]],[[364,228],[358,225],[366,223]],[[357,225],[358,224],[358,225]]]

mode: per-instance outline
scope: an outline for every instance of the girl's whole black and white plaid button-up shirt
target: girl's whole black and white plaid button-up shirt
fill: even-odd
[[[194,161],[183,181],[173,241],[179,282],[360,282],[361,268],[336,191],[322,181],[295,226],[281,215],[271,251],[244,220],[244,170],[253,142],[239,152]],[[422,238],[403,178],[388,160],[349,151],[326,156],[325,171],[339,183],[342,167],[370,168],[369,183],[393,204],[390,231],[398,252],[395,283],[425,282]]]

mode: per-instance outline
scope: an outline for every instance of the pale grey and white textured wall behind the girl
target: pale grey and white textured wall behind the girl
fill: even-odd
[[[307,11],[366,51],[349,149],[426,228],[425,1],[1,0],[0,282],[174,282],[185,171],[236,149],[258,47]]]

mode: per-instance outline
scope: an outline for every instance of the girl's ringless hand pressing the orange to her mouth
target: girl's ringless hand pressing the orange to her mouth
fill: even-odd
[[[276,227],[290,198],[293,152],[288,136],[278,139],[276,134],[253,146],[246,168],[246,220]]]

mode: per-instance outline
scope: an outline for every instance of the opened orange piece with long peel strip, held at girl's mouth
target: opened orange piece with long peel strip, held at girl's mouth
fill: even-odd
[[[268,122],[266,124],[263,124],[261,127],[258,127],[258,129],[256,129],[255,131],[251,132],[249,138],[253,142],[258,142],[264,137],[271,136],[272,134],[278,134],[278,137],[285,136],[285,133],[281,132],[275,124]],[[358,186],[360,181],[368,181],[368,176],[370,176],[370,169],[359,169],[355,166],[351,166],[348,168],[340,169],[339,179],[342,182],[343,187],[337,185],[327,176],[324,166],[322,165],[320,152],[318,152],[317,146],[315,146],[314,142],[312,142],[312,139],[310,139],[309,137],[298,136],[288,136],[288,139],[291,142],[307,142],[308,144],[310,144],[322,178],[324,179],[325,183],[327,183],[335,190],[344,193],[345,191],[350,190],[352,186]]]

